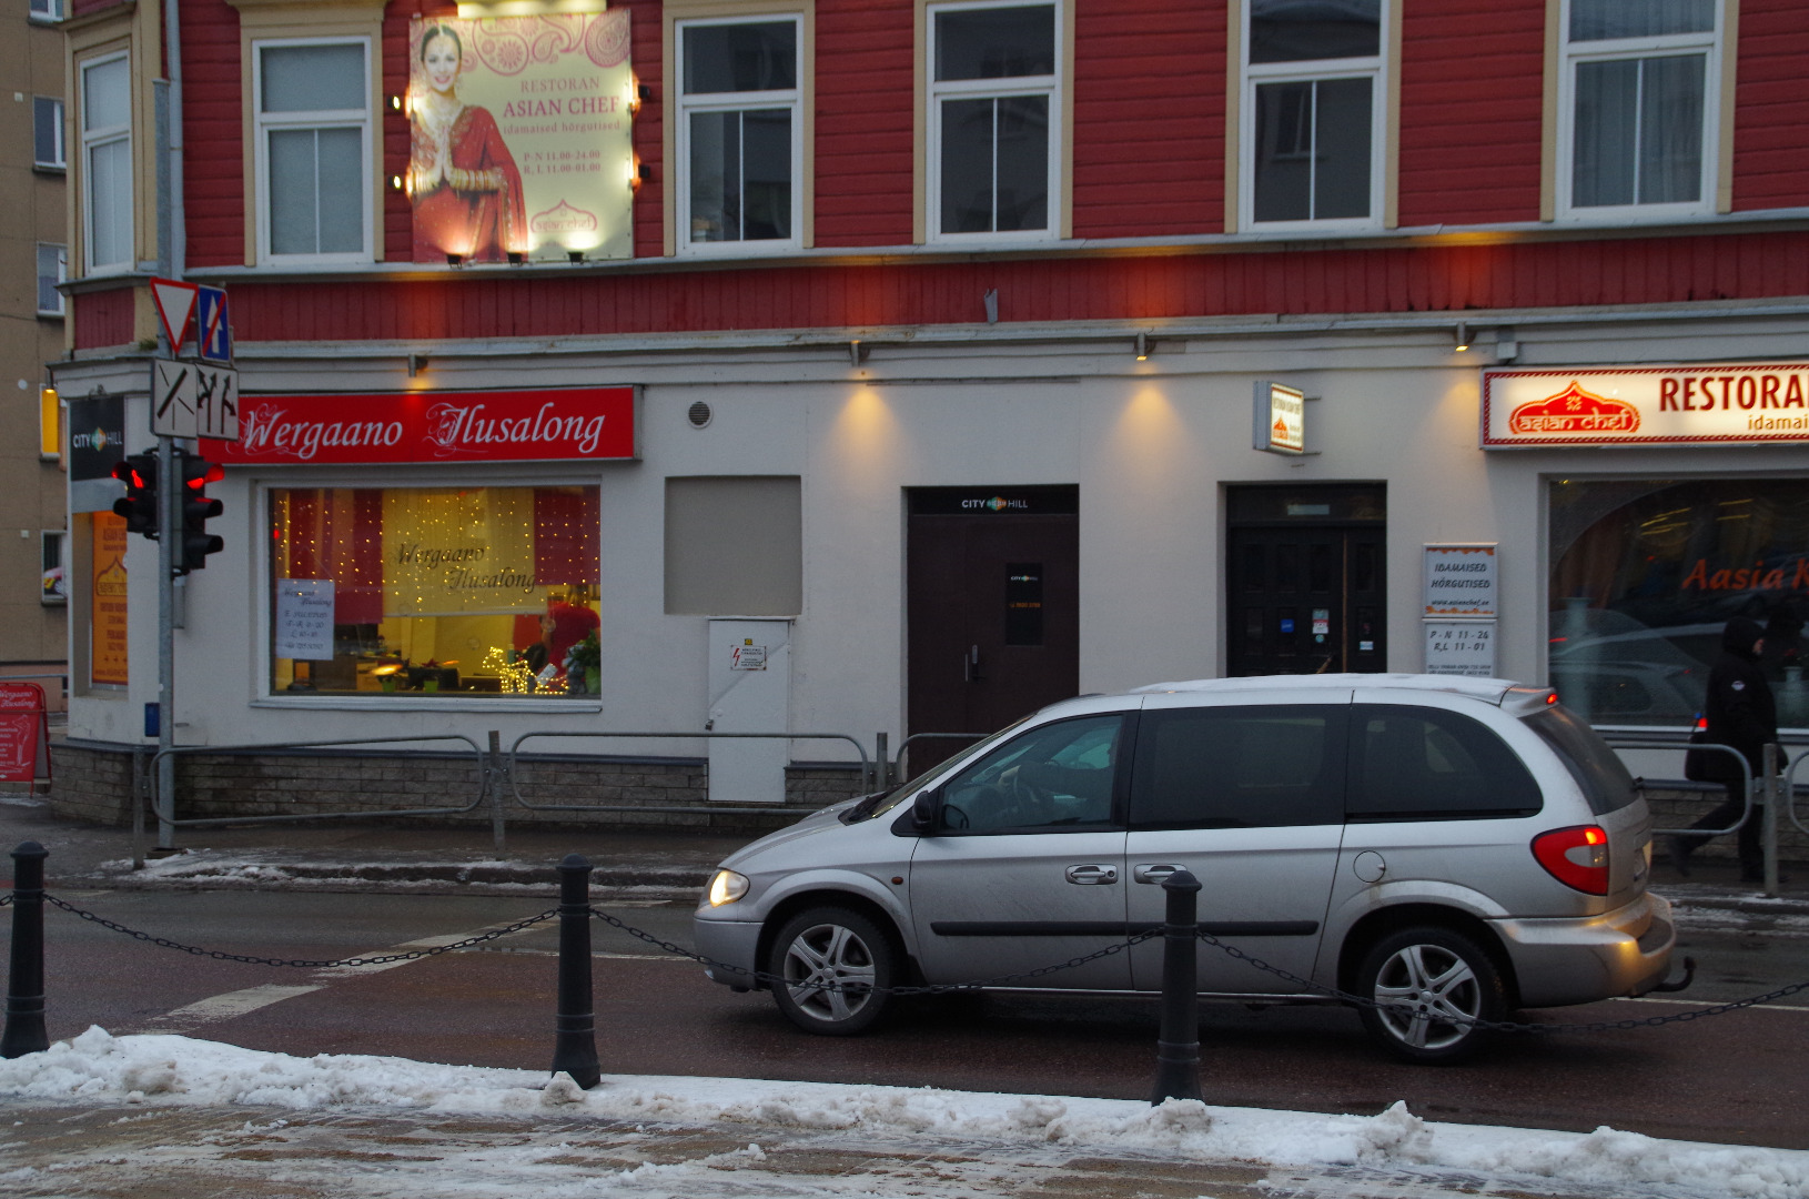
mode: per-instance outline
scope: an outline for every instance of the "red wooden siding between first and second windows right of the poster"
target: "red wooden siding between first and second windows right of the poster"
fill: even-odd
[[[910,4],[816,5],[816,244],[903,246],[912,239]]]

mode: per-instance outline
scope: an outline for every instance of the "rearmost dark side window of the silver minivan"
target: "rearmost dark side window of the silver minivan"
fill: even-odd
[[[1543,805],[1527,767],[1480,722],[1436,707],[1357,707],[1348,819],[1501,819]]]

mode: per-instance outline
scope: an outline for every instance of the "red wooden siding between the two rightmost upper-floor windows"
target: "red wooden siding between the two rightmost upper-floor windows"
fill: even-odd
[[[1407,4],[1400,224],[1539,219],[1545,4]]]

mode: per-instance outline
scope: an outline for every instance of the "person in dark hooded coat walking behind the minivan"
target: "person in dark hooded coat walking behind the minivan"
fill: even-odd
[[[1757,620],[1735,617],[1720,633],[1720,656],[1708,673],[1708,700],[1702,705],[1706,738],[1715,745],[1729,745],[1746,758],[1753,778],[1764,774],[1766,741],[1778,740],[1778,705],[1771,684],[1758,666],[1766,649],[1766,629]],[[1731,761],[1728,763],[1733,765]],[[1690,828],[1726,828],[1746,812],[1744,779],[1735,776],[1724,783],[1728,798],[1719,808]],[[1760,843],[1758,814],[1740,825],[1740,881],[1758,883],[1766,870],[1766,852]],[[1700,848],[1710,834],[1681,834],[1672,837],[1672,864],[1679,873],[1690,873],[1690,854]]]

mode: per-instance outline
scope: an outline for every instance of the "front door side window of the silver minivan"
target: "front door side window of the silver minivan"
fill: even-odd
[[[1040,725],[942,785],[941,832],[1082,832],[1113,823],[1125,718]]]

